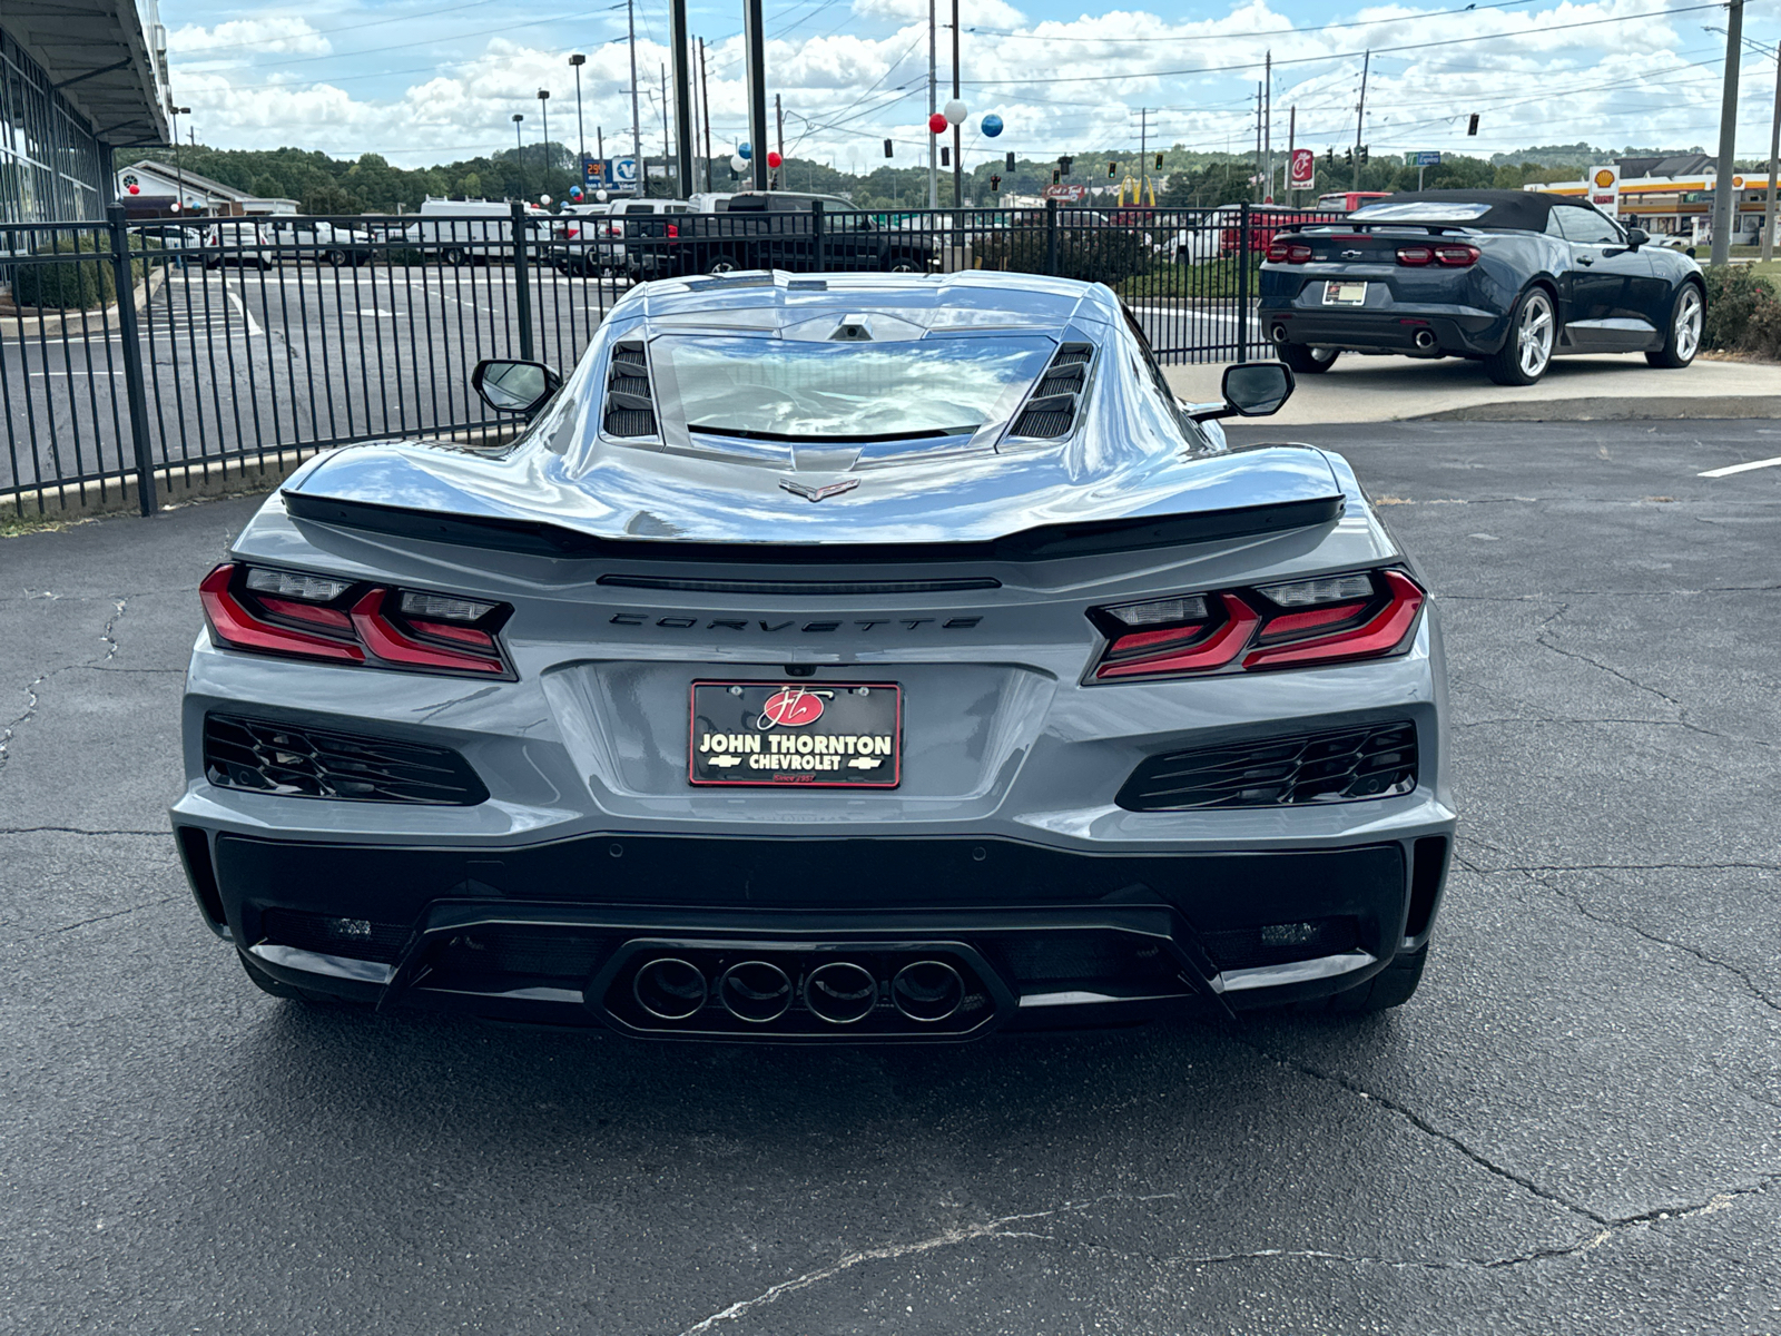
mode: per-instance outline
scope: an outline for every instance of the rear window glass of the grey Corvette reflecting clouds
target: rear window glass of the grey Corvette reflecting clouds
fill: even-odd
[[[1004,422],[1056,351],[1051,338],[801,342],[666,337],[650,344],[663,408],[687,429],[753,440],[958,436]]]

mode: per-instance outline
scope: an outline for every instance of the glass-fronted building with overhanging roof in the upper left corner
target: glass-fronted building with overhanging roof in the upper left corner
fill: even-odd
[[[155,0],[0,4],[0,224],[102,217],[112,150],[169,121]]]

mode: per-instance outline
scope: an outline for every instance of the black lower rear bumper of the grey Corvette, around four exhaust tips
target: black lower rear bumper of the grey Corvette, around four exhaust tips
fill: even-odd
[[[907,1042],[1359,985],[1427,939],[1450,835],[1088,853],[1001,837],[602,834],[420,848],[187,828],[180,848],[207,916],[258,969],[313,992],[663,1039]],[[709,996],[693,1014],[639,1006],[652,960],[698,973]],[[743,1019],[723,1005],[720,982],[743,960],[784,973],[784,1014]],[[858,1022],[803,1001],[810,973],[842,960],[878,985]],[[898,1010],[892,980],[915,962],[958,974],[956,1010]]]

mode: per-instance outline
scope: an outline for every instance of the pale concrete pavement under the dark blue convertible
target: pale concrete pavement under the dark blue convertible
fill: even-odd
[[[1188,403],[1218,399],[1222,365],[1167,367]],[[1494,385],[1462,358],[1357,356],[1300,376],[1281,426],[1314,422],[1587,422],[1603,419],[1781,417],[1781,365],[1699,360],[1658,371],[1640,354],[1555,358],[1535,385]]]

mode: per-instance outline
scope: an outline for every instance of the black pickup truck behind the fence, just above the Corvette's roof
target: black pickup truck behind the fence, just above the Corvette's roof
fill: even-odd
[[[898,274],[935,269],[935,233],[883,228],[839,196],[743,191],[714,203],[714,212],[625,217],[625,258],[632,273],[648,280],[736,269]]]

